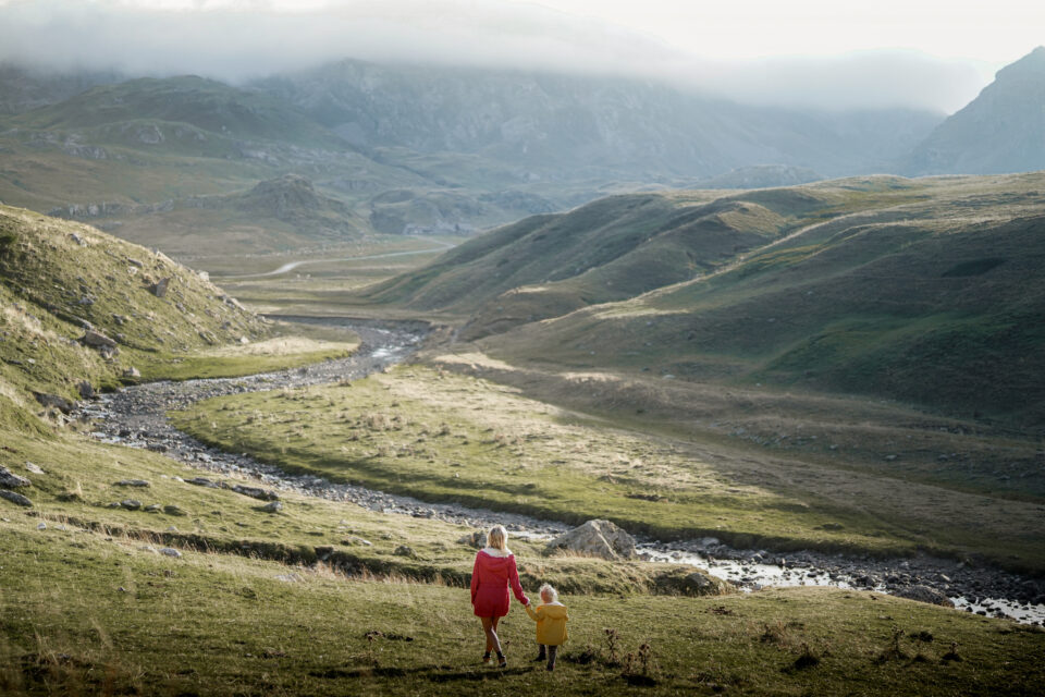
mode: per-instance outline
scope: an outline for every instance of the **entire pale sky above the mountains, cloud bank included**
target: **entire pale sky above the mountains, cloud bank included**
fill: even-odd
[[[0,0],[0,60],[243,81],[337,60],[655,76],[757,102],[952,112],[1045,2]]]

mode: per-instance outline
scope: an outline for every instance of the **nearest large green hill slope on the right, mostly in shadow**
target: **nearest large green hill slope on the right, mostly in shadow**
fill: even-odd
[[[873,394],[1045,427],[1045,174],[926,182],[494,355]],[[815,188],[815,187],[814,187]]]

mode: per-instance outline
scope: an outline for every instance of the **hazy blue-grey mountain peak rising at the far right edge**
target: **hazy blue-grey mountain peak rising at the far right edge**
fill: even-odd
[[[1045,46],[998,71],[964,109],[919,144],[912,174],[996,174],[1045,169]]]

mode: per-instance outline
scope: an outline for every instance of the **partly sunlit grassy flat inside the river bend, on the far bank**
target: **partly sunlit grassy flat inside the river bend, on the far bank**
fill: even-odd
[[[740,547],[927,549],[1045,564],[1033,503],[910,482],[897,493],[896,469],[752,461],[735,447],[627,430],[416,366],[351,387],[208,400],[171,416],[223,450],[429,501],[569,523],[606,517],[662,539],[712,535]],[[981,511],[975,524],[970,505]]]

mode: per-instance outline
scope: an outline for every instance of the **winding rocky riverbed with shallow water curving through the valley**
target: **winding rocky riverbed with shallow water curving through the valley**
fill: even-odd
[[[385,513],[440,518],[485,528],[504,524],[520,537],[550,539],[568,526],[525,515],[433,504],[320,477],[291,475],[271,465],[205,445],[173,428],[167,412],[225,394],[356,380],[408,358],[422,341],[419,323],[383,323],[325,319],[351,327],[362,340],[347,358],[327,360],[295,370],[243,378],[152,382],[104,394],[79,405],[81,416],[95,424],[94,436],[111,443],[162,452],[196,469],[244,477],[271,489],[356,503]],[[982,615],[1007,616],[1019,622],[1045,624],[1045,580],[1028,579],[986,566],[915,557],[875,560],[802,551],[773,554],[764,550],[735,550],[714,538],[686,542],[646,541],[647,559],[690,563],[710,570],[742,589],[765,586],[831,585],[877,590],[925,601],[952,602]]]

